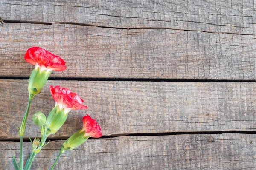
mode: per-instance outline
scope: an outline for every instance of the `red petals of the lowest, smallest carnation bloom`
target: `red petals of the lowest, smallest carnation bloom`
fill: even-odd
[[[89,115],[83,117],[83,128],[81,131],[85,131],[84,136],[90,136],[93,138],[99,138],[102,136],[102,130],[99,127],[96,120],[92,119]]]

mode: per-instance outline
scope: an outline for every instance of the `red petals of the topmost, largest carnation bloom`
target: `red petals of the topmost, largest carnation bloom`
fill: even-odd
[[[40,68],[40,71],[64,71],[67,69],[63,59],[40,47],[29,48],[24,56],[26,62]]]

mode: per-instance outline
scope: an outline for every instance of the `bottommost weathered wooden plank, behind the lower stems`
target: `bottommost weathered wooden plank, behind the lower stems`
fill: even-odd
[[[35,157],[32,169],[49,170],[63,142],[50,142]],[[27,158],[32,146],[24,145]],[[255,145],[255,134],[238,133],[89,139],[66,151],[55,170],[255,170]],[[19,142],[0,142],[2,170],[12,169],[19,146]]]

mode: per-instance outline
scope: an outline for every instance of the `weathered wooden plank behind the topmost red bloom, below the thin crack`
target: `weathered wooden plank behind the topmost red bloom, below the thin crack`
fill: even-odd
[[[23,56],[40,46],[64,58],[52,77],[256,79],[256,36],[180,30],[123,30],[5,23],[0,76],[29,76]]]

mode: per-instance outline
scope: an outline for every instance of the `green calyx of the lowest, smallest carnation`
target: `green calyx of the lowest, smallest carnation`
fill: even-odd
[[[85,131],[79,130],[70,136],[70,138],[63,143],[63,152],[65,150],[72,150],[83,144],[89,138],[89,136],[84,136],[84,134]]]

